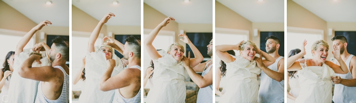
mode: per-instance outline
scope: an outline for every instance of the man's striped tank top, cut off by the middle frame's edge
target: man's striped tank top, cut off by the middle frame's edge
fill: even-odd
[[[212,61],[210,61],[212,62]],[[205,76],[210,69],[212,68],[213,65],[210,65],[208,67],[208,64],[210,63],[208,62],[205,65],[205,70],[202,73],[202,76]],[[209,85],[207,87],[204,88],[200,88],[199,92],[198,92],[198,98],[197,98],[197,103],[212,103],[213,102],[213,84]]]

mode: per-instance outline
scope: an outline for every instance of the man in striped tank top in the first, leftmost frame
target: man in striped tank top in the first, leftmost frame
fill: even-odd
[[[56,37],[52,40],[48,51],[45,43],[35,45],[34,50],[46,50],[51,66],[32,67],[34,61],[41,64],[39,54],[30,55],[21,65],[18,74],[21,77],[40,81],[35,103],[67,103],[69,102],[69,40]]]

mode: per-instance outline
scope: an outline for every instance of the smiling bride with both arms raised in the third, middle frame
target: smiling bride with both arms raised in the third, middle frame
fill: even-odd
[[[146,103],[184,103],[186,95],[184,78],[188,77],[188,73],[181,62],[184,53],[183,46],[174,43],[168,48],[167,52],[157,52],[152,45],[160,29],[174,20],[172,17],[166,18],[153,29],[144,41],[146,51],[155,64],[155,73],[152,78],[155,86],[150,88]],[[203,55],[190,42],[188,37],[185,34],[178,36],[184,38],[180,40],[188,44],[194,53],[195,58],[190,59],[190,66],[194,67],[203,61]]]

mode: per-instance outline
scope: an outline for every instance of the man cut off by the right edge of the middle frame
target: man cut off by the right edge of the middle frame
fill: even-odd
[[[188,58],[183,58],[184,68],[187,70],[189,77],[199,86],[197,103],[211,103],[213,101],[213,39],[210,41],[208,47],[208,55],[210,60],[196,65],[194,68],[190,67],[190,52],[188,52]],[[195,72],[203,72],[202,75],[198,75]]]

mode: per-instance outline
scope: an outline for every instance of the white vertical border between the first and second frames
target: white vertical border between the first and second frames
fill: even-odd
[[[69,86],[69,103],[72,103],[72,77],[73,77],[73,69],[72,69],[72,0],[68,0],[69,1],[69,82],[70,82],[70,86]]]

